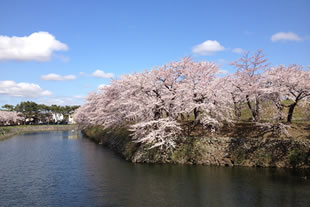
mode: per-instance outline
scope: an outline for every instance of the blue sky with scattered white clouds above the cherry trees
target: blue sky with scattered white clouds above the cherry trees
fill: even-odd
[[[0,106],[81,104],[112,75],[184,56],[229,72],[242,50],[310,65],[309,11],[308,0],[2,0]]]

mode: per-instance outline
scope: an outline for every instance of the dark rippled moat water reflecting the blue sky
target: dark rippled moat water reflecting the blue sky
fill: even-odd
[[[289,170],[132,164],[78,132],[0,142],[0,206],[310,206]]]

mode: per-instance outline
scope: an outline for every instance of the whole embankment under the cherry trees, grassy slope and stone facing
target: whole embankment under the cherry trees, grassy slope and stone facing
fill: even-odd
[[[268,107],[268,106],[267,106]],[[262,114],[262,123],[270,121],[272,108]],[[285,114],[285,111],[284,111]],[[144,163],[180,163],[252,167],[310,167],[309,110],[297,107],[289,136],[248,121],[250,111],[243,107],[241,120],[210,133],[192,120],[182,123],[184,137],[169,151],[132,141],[126,128],[90,127],[84,134],[118,152],[126,160]],[[285,117],[284,117],[285,118]]]

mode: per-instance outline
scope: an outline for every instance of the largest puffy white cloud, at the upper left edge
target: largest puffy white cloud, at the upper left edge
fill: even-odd
[[[24,37],[0,36],[0,60],[48,61],[54,51],[68,46],[48,32],[35,32]]]

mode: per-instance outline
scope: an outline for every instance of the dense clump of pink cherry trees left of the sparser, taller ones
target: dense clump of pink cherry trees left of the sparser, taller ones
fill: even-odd
[[[230,112],[225,81],[215,63],[190,58],[121,76],[97,93],[74,115],[83,124],[127,127],[133,140],[150,148],[171,148],[181,136],[180,117],[194,114],[196,124],[220,126]]]

